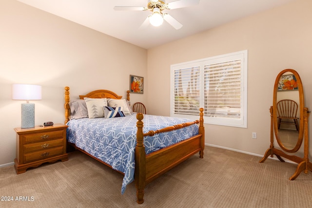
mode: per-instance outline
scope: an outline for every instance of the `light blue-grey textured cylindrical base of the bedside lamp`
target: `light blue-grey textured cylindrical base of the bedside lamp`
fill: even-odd
[[[22,103],[21,104],[21,128],[35,127],[35,104]]]

